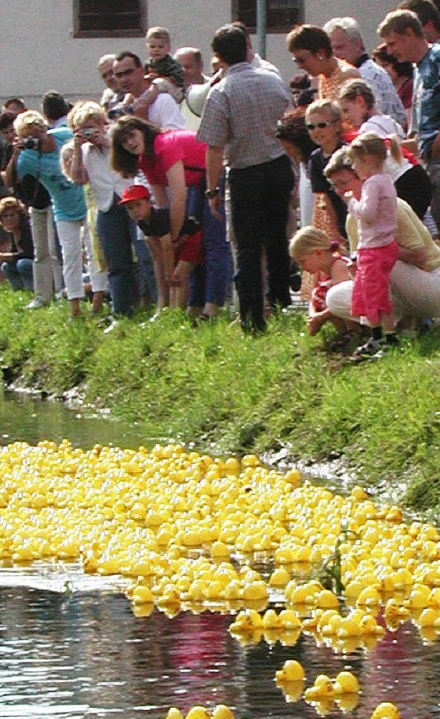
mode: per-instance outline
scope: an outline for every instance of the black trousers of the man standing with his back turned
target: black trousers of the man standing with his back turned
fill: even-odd
[[[246,329],[264,329],[261,274],[262,248],[268,271],[268,300],[272,306],[290,305],[288,203],[295,184],[288,157],[229,171],[231,214],[237,243],[235,284],[240,319]]]

